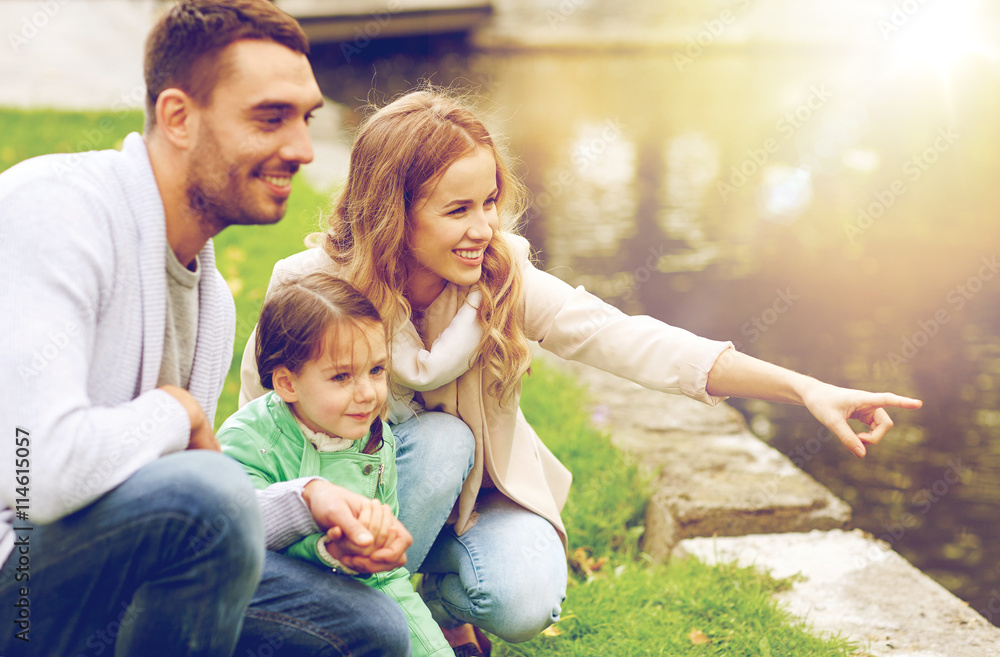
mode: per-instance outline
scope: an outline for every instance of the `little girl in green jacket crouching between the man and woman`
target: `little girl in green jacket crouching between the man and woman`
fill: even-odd
[[[264,303],[255,351],[260,381],[271,392],[226,420],[218,433],[223,451],[243,464],[257,488],[318,476],[372,498],[359,518],[375,537],[370,551],[390,542],[386,521],[398,511],[396,453],[382,420],[389,357],[378,311],[327,274],[290,280]],[[330,555],[327,539],[313,534],[285,553],[357,574]],[[396,568],[363,581],[402,606],[414,655],[454,655],[409,579]]]

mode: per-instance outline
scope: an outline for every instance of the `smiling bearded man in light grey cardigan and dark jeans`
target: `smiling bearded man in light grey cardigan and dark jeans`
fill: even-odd
[[[370,553],[355,497],[258,495],[212,430],[235,311],[211,238],[284,214],[307,53],[266,0],[183,0],[147,40],[142,136],[0,175],[0,654],[409,653],[392,600],[277,552],[321,527],[386,570],[402,525]]]

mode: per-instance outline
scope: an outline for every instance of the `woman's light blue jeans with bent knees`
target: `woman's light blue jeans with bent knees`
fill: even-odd
[[[476,524],[461,536],[442,526],[472,468],[464,422],[423,413],[392,427],[398,447],[399,517],[413,535],[410,572],[427,573],[421,594],[443,627],[472,623],[509,642],[559,620],[566,553],[549,521],[499,491],[480,495]]]

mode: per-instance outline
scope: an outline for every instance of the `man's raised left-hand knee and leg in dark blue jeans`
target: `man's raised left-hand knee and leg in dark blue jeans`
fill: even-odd
[[[15,522],[15,527],[25,526]],[[264,559],[255,494],[218,453],[180,452],[90,506],[17,532],[30,579],[0,571],[0,654],[228,655]],[[14,638],[28,588],[30,642]]]

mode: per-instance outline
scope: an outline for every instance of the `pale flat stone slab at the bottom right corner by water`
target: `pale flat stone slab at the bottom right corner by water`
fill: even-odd
[[[1000,654],[1000,628],[860,530],[693,538],[677,549],[708,563],[801,575],[778,599],[814,629],[858,641],[875,657]]]

